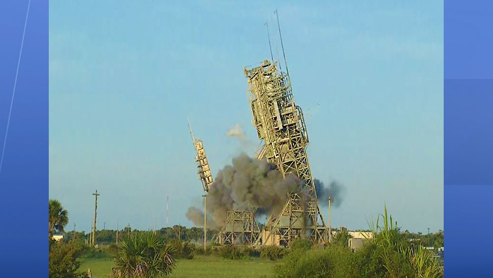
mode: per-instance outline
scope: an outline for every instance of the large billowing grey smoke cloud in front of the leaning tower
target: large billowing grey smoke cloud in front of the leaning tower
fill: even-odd
[[[219,171],[209,189],[207,217],[214,223],[211,228],[222,227],[231,210],[255,206],[258,213],[280,212],[289,193],[300,192],[302,184],[294,175],[283,178],[274,164],[242,153]],[[202,210],[190,208],[187,217],[203,225]]]

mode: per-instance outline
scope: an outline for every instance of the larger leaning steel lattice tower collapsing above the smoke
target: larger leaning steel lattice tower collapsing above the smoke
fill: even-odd
[[[256,244],[289,245],[295,238],[313,244],[328,242],[328,231],[317,203],[317,193],[306,147],[309,143],[301,108],[293,99],[289,74],[277,63],[264,61],[244,69],[249,84],[253,124],[264,141],[262,155],[277,166],[284,177],[295,175],[302,192],[290,194],[280,214],[270,214]]]

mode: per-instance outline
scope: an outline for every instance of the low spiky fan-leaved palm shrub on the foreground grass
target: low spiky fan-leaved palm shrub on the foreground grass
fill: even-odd
[[[132,234],[118,249],[110,277],[164,277],[176,265],[173,248],[153,233]]]

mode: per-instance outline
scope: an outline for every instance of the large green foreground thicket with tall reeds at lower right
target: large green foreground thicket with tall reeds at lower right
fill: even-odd
[[[443,277],[443,269],[433,255],[421,246],[411,245],[386,208],[376,225],[371,226],[374,239],[366,241],[354,254],[345,244],[348,237],[344,233],[340,234],[338,244],[325,249],[310,248],[302,241],[293,242],[282,263],[275,266],[277,277]]]

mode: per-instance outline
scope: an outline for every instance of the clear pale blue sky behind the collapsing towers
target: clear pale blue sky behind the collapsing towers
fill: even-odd
[[[69,229],[89,230],[96,189],[98,228],[166,226],[168,195],[169,225],[192,225],[187,116],[214,175],[252,153],[226,132],[258,144],[243,67],[270,57],[275,9],[313,176],[346,188],[332,226],[386,203],[403,229],[443,229],[443,2],[51,1],[49,196]]]

